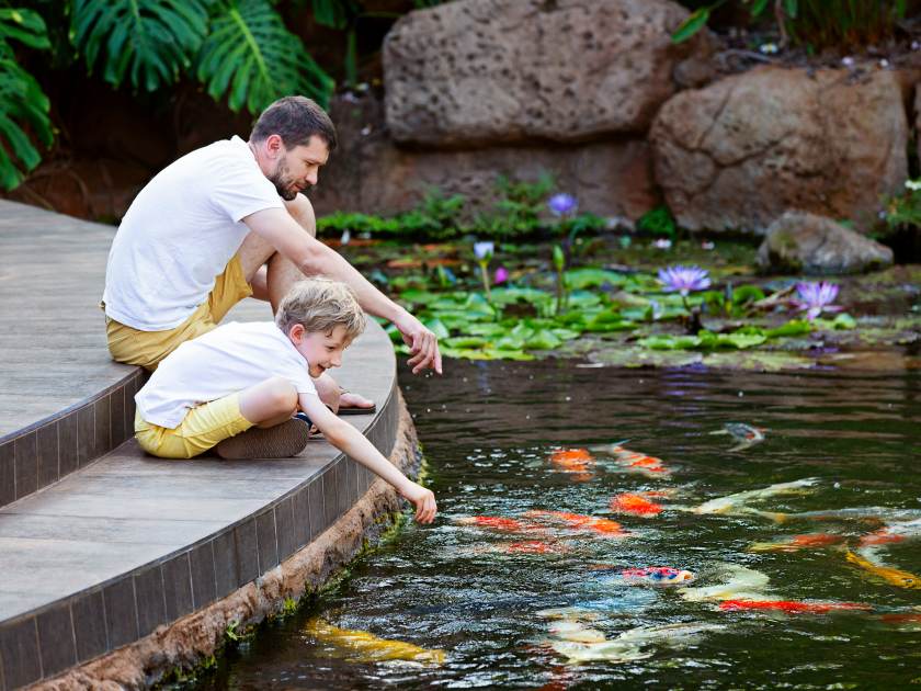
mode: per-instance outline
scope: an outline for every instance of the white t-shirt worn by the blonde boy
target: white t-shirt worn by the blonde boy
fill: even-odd
[[[231,321],[185,341],[135,396],[140,417],[177,428],[190,409],[280,376],[317,395],[307,360],[272,321]]]

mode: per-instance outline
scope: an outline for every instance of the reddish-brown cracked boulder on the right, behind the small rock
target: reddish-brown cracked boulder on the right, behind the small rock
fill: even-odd
[[[763,67],[666,103],[656,181],[692,230],[763,235],[787,208],[867,224],[908,173],[903,76]]]

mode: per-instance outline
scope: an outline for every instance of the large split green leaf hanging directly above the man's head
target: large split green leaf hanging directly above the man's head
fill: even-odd
[[[275,99],[300,94],[326,106],[333,81],[269,0],[224,0],[198,54],[198,79],[234,111],[259,113]]]

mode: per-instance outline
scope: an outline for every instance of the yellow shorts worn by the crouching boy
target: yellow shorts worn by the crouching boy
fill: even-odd
[[[192,408],[175,429],[151,424],[135,414],[135,437],[147,453],[161,458],[192,458],[252,427],[240,412],[240,394]]]

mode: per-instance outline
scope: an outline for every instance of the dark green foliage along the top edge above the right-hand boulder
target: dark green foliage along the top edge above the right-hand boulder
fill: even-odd
[[[812,49],[837,46],[859,48],[892,35],[896,22],[907,12],[907,0],[738,0],[753,19],[769,5],[781,34],[781,44],[794,43]],[[714,10],[727,0],[698,8],[672,34],[674,43],[687,41],[709,21]]]

